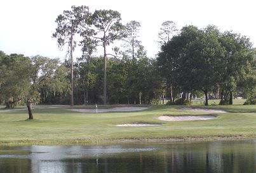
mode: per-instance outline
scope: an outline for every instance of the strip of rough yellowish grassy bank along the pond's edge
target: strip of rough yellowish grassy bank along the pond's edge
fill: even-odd
[[[67,139],[67,140],[45,140],[45,141],[0,141],[0,147],[4,146],[58,146],[58,145],[104,145],[104,144],[121,144],[121,143],[179,143],[179,142],[206,142],[206,141],[241,141],[246,139],[255,139],[252,136],[186,136],[170,138],[123,138],[123,139]]]

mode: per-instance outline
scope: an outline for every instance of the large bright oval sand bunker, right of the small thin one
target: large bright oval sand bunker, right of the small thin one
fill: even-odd
[[[194,120],[210,120],[215,119],[213,115],[184,115],[184,116],[160,116],[159,120],[163,121],[194,121]]]

